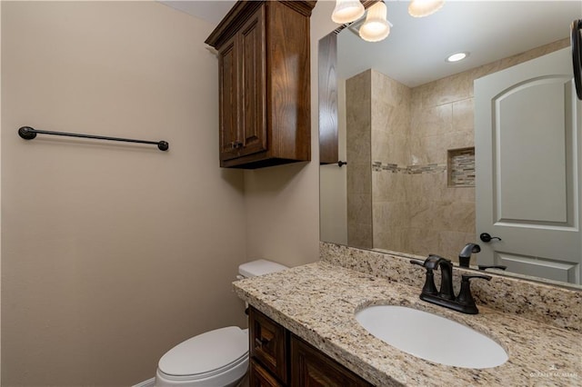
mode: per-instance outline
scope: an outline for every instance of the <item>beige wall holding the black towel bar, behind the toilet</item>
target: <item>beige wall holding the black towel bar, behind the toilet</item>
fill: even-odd
[[[251,174],[247,203],[243,174],[218,167],[212,28],[150,2],[2,2],[2,385],[130,385],[177,342],[244,325],[230,283],[254,206],[291,203],[269,236],[287,263],[313,260],[310,165],[267,172],[273,185]],[[26,142],[25,124],[170,150]],[[249,251],[275,255],[263,230]]]

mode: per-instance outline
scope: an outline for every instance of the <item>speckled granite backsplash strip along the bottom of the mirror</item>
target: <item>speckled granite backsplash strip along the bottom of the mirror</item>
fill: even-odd
[[[409,263],[410,258],[422,257],[409,254],[398,256],[325,242],[319,244],[319,254],[324,262],[416,287],[418,291],[425,282],[423,269]],[[461,273],[475,272],[455,268],[456,286],[460,283]],[[439,274],[435,274],[438,286]],[[487,305],[504,313],[515,313],[557,328],[582,332],[582,291],[492,272],[487,274],[493,277],[491,281],[474,281],[471,285],[477,305]]]

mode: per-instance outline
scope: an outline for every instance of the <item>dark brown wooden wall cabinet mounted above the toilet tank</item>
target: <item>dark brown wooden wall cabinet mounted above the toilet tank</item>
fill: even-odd
[[[206,39],[218,51],[220,166],[310,160],[315,3],[239,1]]]

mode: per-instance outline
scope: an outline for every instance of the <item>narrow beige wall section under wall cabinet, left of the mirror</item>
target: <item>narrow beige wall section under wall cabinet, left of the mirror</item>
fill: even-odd
[[[295,266],[319,259],[319,145],[317,43],[336,28],[333,1],[318,1],[311,15],[311,163],[245,172],[246,246],[249,258]]]

